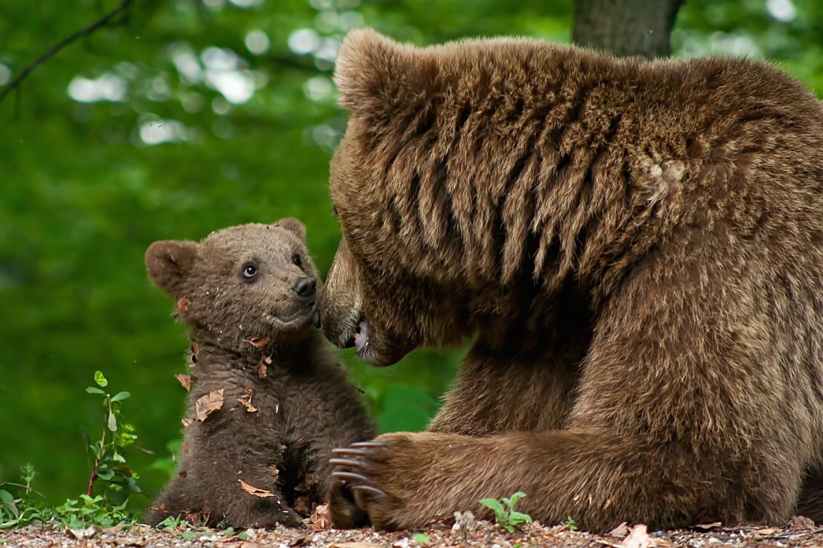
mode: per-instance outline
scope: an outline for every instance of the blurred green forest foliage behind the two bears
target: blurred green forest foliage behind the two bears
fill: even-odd
[[[119,0],[0,0],[0,85]],[[0,481],[21,464],[54,502],[85,490],[86,394],[99,369],[128,390],[129,463],[153,495],[184,402],[185,330],[146,279],[166,238],[302,219],[323,273],[339,229],[328,161],[346,118],[331,69],[343,33],[371,25],[430,44],[477,35],[570,40],[574,2],[163,0],[72,44],[0,103]],[[672,54],[770,58],[823,92],[823,2],[689,0]],[[371,369],[340,352],[381,431],[421,430],[459,351]]]

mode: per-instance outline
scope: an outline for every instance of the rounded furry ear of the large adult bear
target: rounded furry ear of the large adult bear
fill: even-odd
[[[372,29],[350,30],[340,45],[334,83],[340,104],[354,114],[382,113],[425,95],[435,59]]]

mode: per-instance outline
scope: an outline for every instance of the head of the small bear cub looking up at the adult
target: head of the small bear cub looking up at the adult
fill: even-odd
[[[244,340],[294,343],[311,328],[318,273],[297,219],[224,228],[201,242],[154,242],[149,277],[177,300],[192,338],[248,350]]]

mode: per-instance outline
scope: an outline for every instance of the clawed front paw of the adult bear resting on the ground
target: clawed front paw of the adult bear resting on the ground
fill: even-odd
[[[398,432],[334,449],[330,463],[339,487],[332,489],[329,504],[332,523],[351,527],[351,504],[368,515],[375,529],[418,527],[447,517],[439,515],[435,493],[421,489],[449,488],[428,478],[438,445],[431,436]]]

